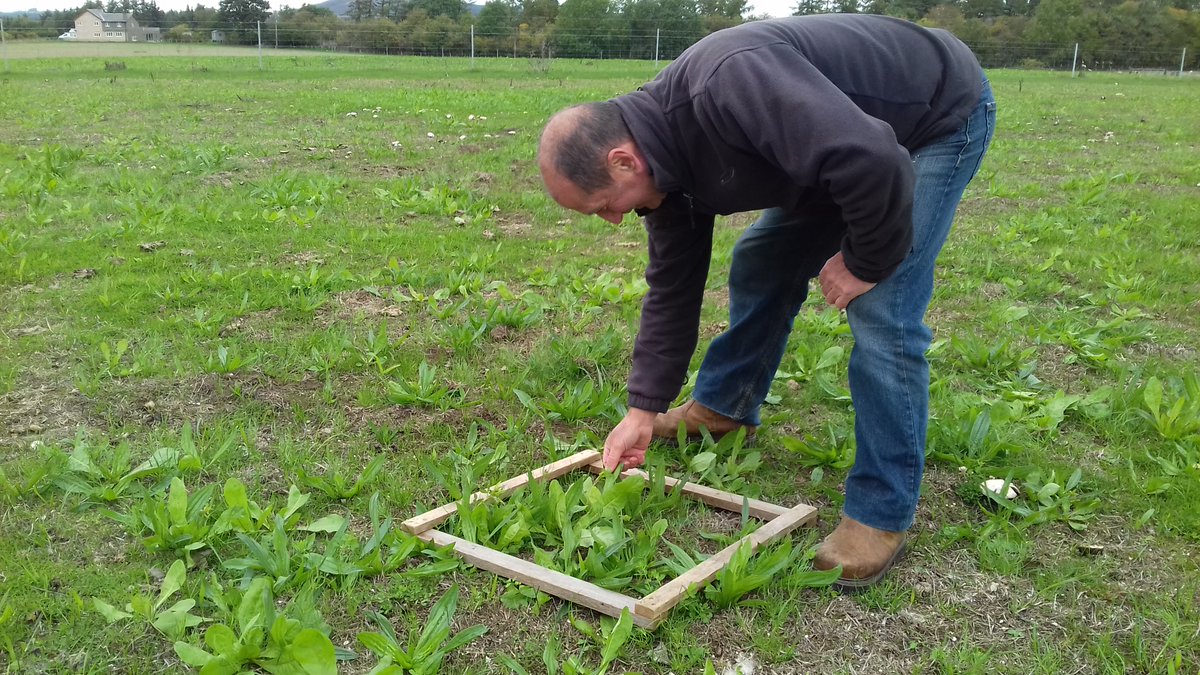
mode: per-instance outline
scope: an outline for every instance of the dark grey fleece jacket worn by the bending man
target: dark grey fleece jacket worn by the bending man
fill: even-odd
[[[613,100],[668,196],[643,213],[650,289],[629,405],[665,411],[696,348],[714,215],[782,208],[846,225],[846,265],[881,281],[912,241],[910,153],[962,126],[983,74],[954,36],[865,14],[714,32]]]

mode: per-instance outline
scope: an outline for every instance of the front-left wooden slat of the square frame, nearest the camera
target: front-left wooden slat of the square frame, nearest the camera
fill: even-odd
[[[552,596],[575,604],[594,609],[600,614],[620,617],[620,611],[628,609],[634,623],[642,628],[655,628],[659,620],[638,616],[635,613],[637,601],[629,596],[601,589],[595,584],[576,579],[562,572],[547,569],[527,560],[505,552],[473,544],[466,539],[446,534],[440,530],[426,530],[419,538],[438,546],[454,545],[455,554],[475,567],[493,572],[505,579],[540,589]]]

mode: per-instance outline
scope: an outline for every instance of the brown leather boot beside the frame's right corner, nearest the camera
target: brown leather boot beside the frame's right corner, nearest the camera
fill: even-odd
[[[814,569],[841,566],[835,589],[853,592],[878,583],[905,551],[904,532],[876,530],[841,516],[838,527],[824,538],[812,558]]]

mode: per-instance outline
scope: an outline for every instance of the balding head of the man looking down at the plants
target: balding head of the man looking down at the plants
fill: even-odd
[[[551,198],[612,223],[634,209],[658,208],[665,197],[611,101],[574,106],[550,118],[538,167]]]

